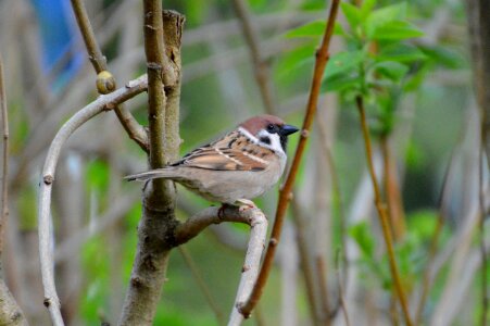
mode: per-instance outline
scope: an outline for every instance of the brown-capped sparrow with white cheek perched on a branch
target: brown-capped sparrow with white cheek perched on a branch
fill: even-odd
[[[171,179],[212,202],[254,206],[251,199],[269,190],[282,175],[288,136],[298,130],[274,115],[254,116],[168,166],[125,178]]]

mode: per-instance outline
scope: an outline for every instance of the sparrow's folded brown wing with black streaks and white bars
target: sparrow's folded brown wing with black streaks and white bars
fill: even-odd
[[[274,155],[274,152],[234,131],[193,150],[172,165],[218,171],[263,171],[269,164],[268,155]]]

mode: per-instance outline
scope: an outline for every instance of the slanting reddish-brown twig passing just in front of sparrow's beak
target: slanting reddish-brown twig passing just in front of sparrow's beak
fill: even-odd
[[[251,311],[256,305],[256,303],[259,302],[259,300],[262,296],[263,289],[265,287],[265,284],[268,278],[268,274],[269,274],[272,265],[273,265],[276,248],[280,240],[280,231],[282,228],[286,210],[288,208],[289,201],[292,196],[291,189],[294,184],[296,176],[298,174],[299,165],[300,165],[301,159],[303,156],[303,152],[304,152],[304,149],[306,146],[306,140],[307,140],[309,134],[310,134],[310,128],[313,123],[315,112],[316,112],[316,106],[318,103],[318,96],[321,92],[323,74],[325,71],[325,66],[327,65],[328,58],[329,58],[328,49],[329,49],[331,36],[334,34],[334,26],[335,26],[335,21],[337,17],[339,2],[340,2],[339,0],[334,0],[331,2],[330,13],[328,16],[328,22],[327,22],[327,26],[325,29],[325,34],[324,34],[324,37],[322,40],[322,46],[316,52],[315,70],[313,73],[313,80],[312,80],[309,102],[306,105],[306,113],[304,116],[303,127],[301,130],[301,137],[298,142],[297,151],[296,151],[292,164],[291,164],[291,170],[288,174],[288,177],[286,179],[286,183],[285,183],[282,189],[279,192],[279,200],[277,203],[277,210],[276,210],[276,218],[274,221],[274,226],[273,226],[273,230],[271,234],[271,240],[268,242],[264,262],[261,267],[261,272],[259,274],[257,281],[256,281],[255,286],[253,287],[253,291],[252,291],[250,298],[240,308],[241,313],[246,317],[250,315]]]

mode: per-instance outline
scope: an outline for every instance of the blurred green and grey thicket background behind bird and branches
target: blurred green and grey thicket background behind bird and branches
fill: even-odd
[[[118,85],[146,73],[141,1],[85,2]],[[254,114],[273,111],[289,124],[302,124],[317,30],[329,2],[240,1],[259,53],[251,51],[243,18],[233,2],[164,1],[165,9],[187,17],[181,51],[183,154]],[[480,123],[467,9],[453,0],[365,2],[372,3],[366,15],[399,5],[397,20],[413,29],[394,37],[405,47],[390,48],[387,61],[395,63],[379,63],[373,58],[388,55],[387,34],[373,50],[374,42],[363,43],[362,28],[367,25],[357,22],[355,27],[349,9],[340,12],[325,91],[276,264],[263,300],[246,325],[344,325],[340,294],[351,325],[403,324],[353,100],[359,91],[354,71],[377,64],[370,82],[363,79],[372,83],[365,92],[368,122],[411,312],[424,325],[482,323],[481,292],[488,284],[482,285],[479,240],[486,237],[489,242],[490,233],[488,225],[486,231],[478,226],[478,196],[481,184],[487,185],[487,168],[479,171]],[[388,11],[380,13],[385,14]],[[388,46],[393,37],[389,40]],[[354,49],[364,54],[354,57]],[[96,74],[67,0],[0,0],[0,53],[10,125],[10,216],[4,223],[2,272],[29,323],[50,325],[38,264],[38,179],[59,127],[97,98]],[[347,54],[335,57],[338,53]],[[257,68],[268,84],[268,104]],[[345,76],[357,82],[345,83]],[[147,125],[146,93],[125,105]],[[291,137],[290,155],[297,140]],[[68,325],[113,324],[118,318],[141,209],[141,185],[127,184],[123,177],[146,168],[145,153],[113,112],[77,130],[63,149],[52,214],[56,287]],[[181,220],[209,205],[184,188],[178,188],[178,197]],[[276,200],[277,189],[256,201],[271,225]],[[154,324],[226,321],[248,231],[222,224],[174,250]],[[437,250],[430,254],[434,242]],[[487,271],[487,279],[489,275]],[[214,312],[201,290],[203,284],[216,305]],[[427,298],[419,309],[424,289]]]

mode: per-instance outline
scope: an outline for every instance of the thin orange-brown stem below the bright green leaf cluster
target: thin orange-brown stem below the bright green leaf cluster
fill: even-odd
[[[381,224],[382,235],[385,238],[386,249],[387,249],[387,253],[388,253],[388,261],[390,264],[391,278],[394,284],[394,289],[397,291],[397,296],[399,298],[400,305],[402,306],[405,323],[407,326],[411,326],[413,324],[412,324],[412,319],[410,317],[409,304],[406,301],[406,297],[403,291],[402,283],[400,280],[400,273],[398,272],[398,265],[397,265],[397,260],[395,260],[394,250],[393,250],[393,240],[391,238],[391,230],[390,230],[390,224],[389,224],[387,212],[386,212],[386,205],[382,202],[381,191],[379,190],[378,179],[376,178],[376,173],[374,170],[373,151],[370,148],[370,137],[369,137],[369,130],[367,127],[366,112],[364,109],[363,98],[361,96],[357,96],[355,98],[355,102],[356,102],[357,110],[360,113],[361,128],[362,128],[363,138],[364,138],[364,146],[365,146],[365,150],[366,150],[367,167],[369,170],[369,175],[370,175],[370,179],[373,183],[373,189],[375,192],[375,206],[376,206],[376,210],[378,211],[379,222]]]

